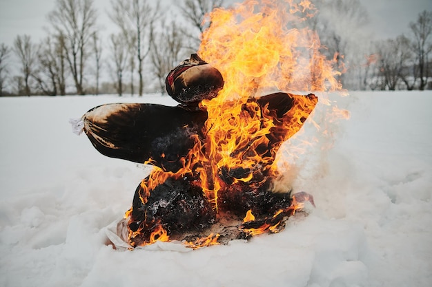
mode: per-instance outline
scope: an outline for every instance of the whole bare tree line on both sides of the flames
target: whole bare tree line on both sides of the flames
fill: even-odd
[[[169,9],[155,1],[111,0],[108,16],[117,32],[104,39],[92,0],[57,0],[39,43],[23,34],[12,47],[0,45],[0,96],[164,93],[166,74],[197,50],[211,25],[203,21],[206,13],[224,5],[178,1],[178,15],[167,17]],[[432,89],[432,12],[418,14],[409,34],[368,41],[362,30],[368,14],[359,0],[317,0],[315,6],[315,17],[302,25],[319,34],[320,52],[343,70],[346,89]],[[16,75],[10,75],[12,64]]]

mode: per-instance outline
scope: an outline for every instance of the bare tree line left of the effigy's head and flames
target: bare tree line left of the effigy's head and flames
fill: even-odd
[[[47,15],[47,36],[34,43],[17,35],[12,47],[0,45],[0,96],[164,91],[170,70],[195,52],[204,30],[204,15],[222,0],[176,3],[181,24],[166,21],[166,8],[149,0],[111,0],[108,16],[117,32],[102,39],[99,16],[92,0],[57,0]],[[162,15],[162,12],[164,15]],[[19,74],[10,76],[15,56]],[[100,83],[103,71],[110,80]],[[128,76],[128,85],[125,84]],[[146,85],[157,78],[157,85]],[[145,89],[150,87],[153,89]]]

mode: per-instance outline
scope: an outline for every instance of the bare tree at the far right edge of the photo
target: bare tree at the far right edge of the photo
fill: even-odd
[[[421,12],[409,28],[413,32],[412,47],[418,63],[419,89],[423,90],[429,78],[429,54],[432,52],[432,11]]]

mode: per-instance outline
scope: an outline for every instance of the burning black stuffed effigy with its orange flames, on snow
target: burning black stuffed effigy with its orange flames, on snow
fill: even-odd
[[[117,228],[131,248],[277,233],[304,202],[313,204],[311,195],[275,184],[283,176],[279,148],[318,102],[291,91],[340,87],[316,34],[297,27],[311,11],[307,1],[217,8],[197,54],[166,77],[179,105],[107,104],[82,116],[80,128],[100,153],[154,166]]]

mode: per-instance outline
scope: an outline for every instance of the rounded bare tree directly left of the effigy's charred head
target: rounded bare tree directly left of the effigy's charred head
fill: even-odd
[[[174,22],[162,22],[160,32],[155,32],[152,41],[151,61],[154,74],[159,79],[161,93],[165,91],[165,78],[181,60],[184,48],[183,30]]]

